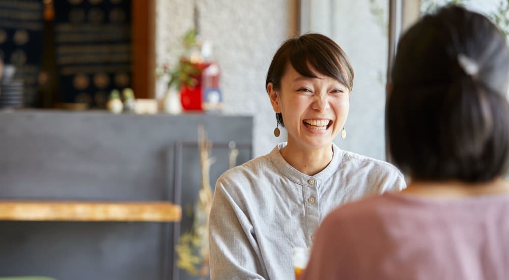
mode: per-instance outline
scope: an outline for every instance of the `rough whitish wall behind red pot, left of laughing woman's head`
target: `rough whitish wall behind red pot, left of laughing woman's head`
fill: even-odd
[[[221,67],[224,113],[254,116],[254,155],[268,153],[275,138],[275,117],[265,91],[265,76],[277,47],[294,33],[295,0],[196,0],[200,33],[214,44]],[[156,58],[179,54],[180,37],[192,26],[192,1],[158,0]],[[158,85],[158,94],[163,91]],[[283,135],[281,135],[283,136]]]

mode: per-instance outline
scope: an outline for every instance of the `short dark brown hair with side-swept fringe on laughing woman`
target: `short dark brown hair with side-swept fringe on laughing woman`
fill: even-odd
[[[274,54],[265,89],[269,82],[272,82],[274,90],[280,89],[281,77],[288,63],[305,77],[316,78],[310,69],[312,67],[322,75],[337,79],[352,91],[353,68],[350,61],[343,49],[327,36],[308,33],[285,41]],[[280,113],[276,114],[276,119],[278,124],[285,126]]]

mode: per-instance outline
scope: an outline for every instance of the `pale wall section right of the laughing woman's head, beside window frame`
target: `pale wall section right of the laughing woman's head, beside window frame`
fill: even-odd
[[[388,0],[306,0],[309,31],[331,37],[347,53],[355,77],[347,138],[336,137],[344,150],[385,159],[385,76],[387,68]],[[382,9],[381,16],[372,13]],[[323,16],[321,16],[323,14]],[[326,20],[324,20],[326,19]]]

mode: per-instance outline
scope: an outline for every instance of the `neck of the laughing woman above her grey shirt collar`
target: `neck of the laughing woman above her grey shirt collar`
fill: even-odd
[[[324,148],[305,149],[289,143],[279,152],[296,170],[309,176],[314,176],[324,170],[333,156],[332,144]]]

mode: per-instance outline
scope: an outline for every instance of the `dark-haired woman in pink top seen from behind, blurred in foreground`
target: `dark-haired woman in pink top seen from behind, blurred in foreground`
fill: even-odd
[[[509,279],[509,48],[457,6],[401,38],[386,128],[408,187],[329,214],[304,279]]]

